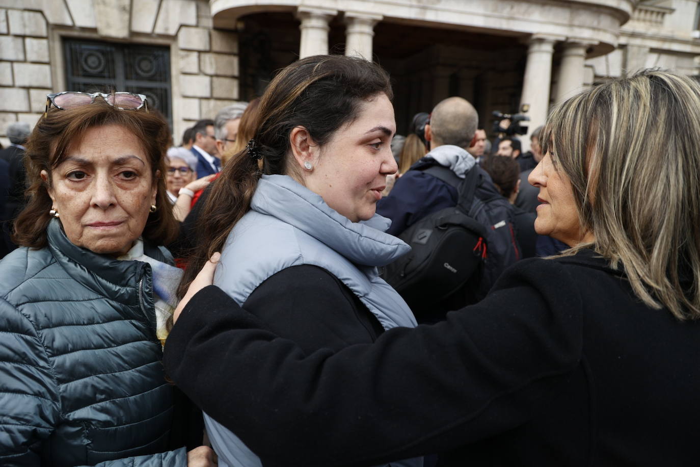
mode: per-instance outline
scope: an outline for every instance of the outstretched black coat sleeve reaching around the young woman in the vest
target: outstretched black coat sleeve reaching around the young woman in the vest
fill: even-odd
[[[266,466],[361,466],[532,417],[580,359],[582,298],[564,265],[535,259],[507,270],[479,304],[373,344],[307,354],[264,326],[204,288],[169,337],[169,375]]]

